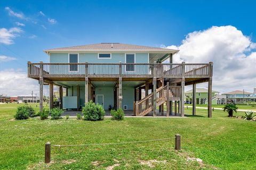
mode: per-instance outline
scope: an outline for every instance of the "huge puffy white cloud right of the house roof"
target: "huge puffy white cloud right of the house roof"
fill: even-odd
[[[213,62],[214,90],[228,92],[244,89],[252,92],[256,87],[256,45],[236,27],[213,26],[194,31],[177,48],[180,51],[173,56],[174,62]],[[199,86],[207,87],[207,84]]]

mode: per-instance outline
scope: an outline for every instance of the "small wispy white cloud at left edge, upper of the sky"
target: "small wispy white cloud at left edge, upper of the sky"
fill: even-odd
[[[22,32],[23,30],[19,27],[13,27],[10,29],[0,28],[0,43],[7,45],[13,44],[13,39],[20,36],[20,33]]]

